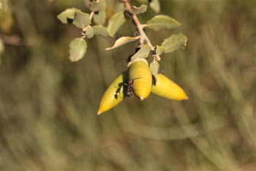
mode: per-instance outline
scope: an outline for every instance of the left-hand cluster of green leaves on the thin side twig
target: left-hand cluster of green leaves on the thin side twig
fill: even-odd
[[[78,61],[86,54],[87,43],[85,38],[91,39],[94,35],[110,37],[108,28],[102,26],[106,20],[105,0],[86,0],[85,4],[91,10],[90,14],[72,7],[65,9],[57,16],[61,23],[72,23],[74,26],[81,28],[81,37],[73,39],[69,44],[70,61]],[[92,22],[94,26],[91,26]]]

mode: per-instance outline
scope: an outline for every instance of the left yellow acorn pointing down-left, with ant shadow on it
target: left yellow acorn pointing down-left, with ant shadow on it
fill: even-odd
[[[110,110],[124,99],[124,83],[127,83],[127,80],[127,72],[123,72],[110,84],[99,102],[98,115]]]

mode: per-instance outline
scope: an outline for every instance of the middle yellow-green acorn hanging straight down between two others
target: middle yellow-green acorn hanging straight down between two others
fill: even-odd
[[[151,92],[152,75],[148,62],[144,58],[132,61],[129,66],[129,80],[133,80],[132,90],[141,100],[146,99]]]

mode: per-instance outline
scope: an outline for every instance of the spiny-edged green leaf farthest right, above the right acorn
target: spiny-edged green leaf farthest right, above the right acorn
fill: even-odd
[[[173,34],[169,38],[165,39],[161,44],[162,52],[172,53],[180,48],[185,48],[187,44],[187,37],[184,34]]]

